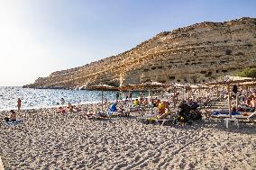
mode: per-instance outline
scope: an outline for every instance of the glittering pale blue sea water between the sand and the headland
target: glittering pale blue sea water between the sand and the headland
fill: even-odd
[[[114,101],[116,92],[104,92],[108,101]],[[22,109],[50,107],[60,103],[101,102],[101,91],[30,89],[22,87],[0,87],[0,110],[17,109],[17,99],[22,99]]]

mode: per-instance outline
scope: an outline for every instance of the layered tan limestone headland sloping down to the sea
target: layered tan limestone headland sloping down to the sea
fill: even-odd
[[[161,32],[137,47],[83,67],[37,79],[35,88],[78,88],[105,83],[204,83],[256,67],[256,19],[202,22]]]

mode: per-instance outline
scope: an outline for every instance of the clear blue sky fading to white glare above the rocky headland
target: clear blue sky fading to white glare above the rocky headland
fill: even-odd
[[[0,86],[117,55],[160,31],[256,17],[254,0],[0,0]]]

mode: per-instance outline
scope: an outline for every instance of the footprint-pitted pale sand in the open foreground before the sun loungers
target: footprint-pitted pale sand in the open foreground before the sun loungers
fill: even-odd
[[[19,125],[1,124],[6,170],[256,169],[256,129],[249,123],[240,129],[215,120],[160,126],[142,123],[139,112],[92,121],[53,111],[30,110]]]

